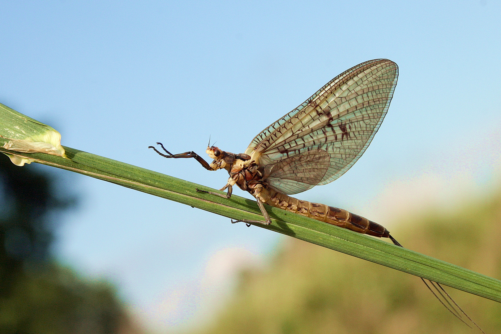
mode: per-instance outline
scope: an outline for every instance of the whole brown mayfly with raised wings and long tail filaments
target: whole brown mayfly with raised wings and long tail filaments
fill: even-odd
[[[258,203],[264,220],[231,220],[232,223],[271,224],[264,204],[376,237],[390,232],[373,221],[343,209],[303,201],[289,195],[330,183],[362,156],[386,115],[397,84],[398,66],[387,59],[359,64],[329,81],[296,109],[258,134],[244,153],[234,154],[207,146],[209,164],[193,151],[172,154],[161,143],[165,158],[195,158],[205,169],[225,169],[228,182],[216,192],[225,198],[232,187],[248,191]],[[464,323],[473,322],[436,282],[423,281],[440,302]],[[466,323],[467,324],[467,323]],[[468,325],[468,324],[467,324]],[[469,326],[469,325],[468,325]],[[478,327],[479,328],[479,327]],[[480,328],[479,328],[480,329]],[[481,329],[480,329],[481,330]]]

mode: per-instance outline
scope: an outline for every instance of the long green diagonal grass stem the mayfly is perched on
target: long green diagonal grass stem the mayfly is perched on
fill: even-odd
[[[217,191],[120,161],[64,147],[69,159],[45,153],[1,152],[33,159],[35,162],[71,170],[155,196],[197,207],[233,219],[261,220],[255,201],[232,195],[230,199],[197,193],[195,188]],[[501,281],[450,264],[383,240],[339,228],[317,220],[267,206],[270,229],[349,255],[501,302]]]

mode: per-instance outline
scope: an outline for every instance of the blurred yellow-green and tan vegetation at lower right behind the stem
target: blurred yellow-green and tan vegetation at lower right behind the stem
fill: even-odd
[[[399,220],[392,235],[405,247],[501,278],[500,192]],[[501,333],[500,303],[446,290],[487,334]],[[242,272],[223,309],[194,332],[479,333],[420,278],[293,238],[267,268]]]

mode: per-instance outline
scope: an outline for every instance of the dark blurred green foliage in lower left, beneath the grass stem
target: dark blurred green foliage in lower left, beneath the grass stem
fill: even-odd
[[[122,303],[105,281],[80,278],[51,259],[59,214],[75,200],[58,196],[39,166],[0,154],[0,333],[118,333]]]

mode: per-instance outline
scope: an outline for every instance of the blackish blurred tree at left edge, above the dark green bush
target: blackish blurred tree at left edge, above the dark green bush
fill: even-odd
[[[0,157],[0,297],[10,295],[26,266],[49,259],[53,226],[48,216],[72,202],[55,197],[53,180],[33,167],[19,168]]]

